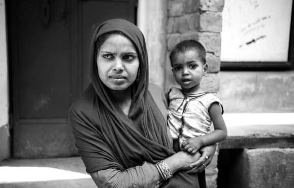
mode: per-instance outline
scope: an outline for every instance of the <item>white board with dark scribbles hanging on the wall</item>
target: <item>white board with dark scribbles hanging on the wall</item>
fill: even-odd
[[[225,0],[221,61],[288,60],[292,0]]]

